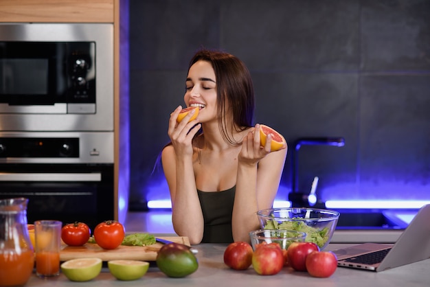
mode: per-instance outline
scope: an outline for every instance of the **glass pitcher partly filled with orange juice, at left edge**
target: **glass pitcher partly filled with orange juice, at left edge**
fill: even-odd
[[[0,200],[0,286],[23,286],[32,275],[34,249],[27,228],[27,198]]]

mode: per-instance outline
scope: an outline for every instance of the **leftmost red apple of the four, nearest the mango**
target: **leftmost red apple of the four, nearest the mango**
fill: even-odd
[[[224,251],[224,263],[235,270],[245,270],[252,264],[253,250],[247,242],[233,242]]]

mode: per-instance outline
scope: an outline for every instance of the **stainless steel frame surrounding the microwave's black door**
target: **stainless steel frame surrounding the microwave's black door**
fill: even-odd
[[[1,131],[113,131],[113,24],[1,23],[0,41],[94,41],[96,104],[0,106]]]

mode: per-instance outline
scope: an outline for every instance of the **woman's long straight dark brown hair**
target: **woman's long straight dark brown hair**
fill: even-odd
[[[231,132],[253,126],[255,100],[251,74],[236,56],[207,49],[201,49],[194,54],[188,71],[199,60],[210,62],[215,71],[216,102],[221,133],[227,142],[238,144],[231,138]],[[226,116],[233,119],[233,126],[227,126]]]

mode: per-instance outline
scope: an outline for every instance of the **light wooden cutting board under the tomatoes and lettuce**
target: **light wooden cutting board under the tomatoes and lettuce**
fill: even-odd
[[[159,237],[190,246],[188,237]],[[97,244],[87,243],[83,246],[61,246],[60,261],[67,261],[77,258],[98,257],[103,261],[109,260],[143,260],[155,261],[157,252],[163,246],[163,243],[155,243],[148,246],[124,246],[120,245],[113,250],[105,250]]]

